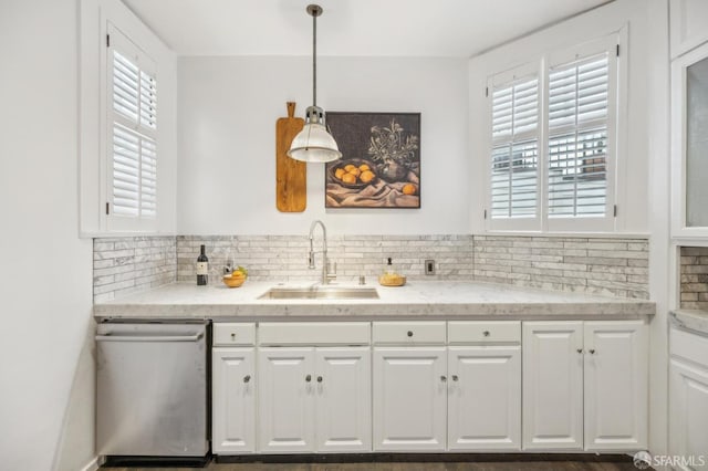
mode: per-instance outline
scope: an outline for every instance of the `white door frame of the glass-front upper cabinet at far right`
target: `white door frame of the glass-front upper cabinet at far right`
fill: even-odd
[[[708,227],[686,226],[686,70],[708,57],[708,42],[671,62],[671,239],[708,238]]]

